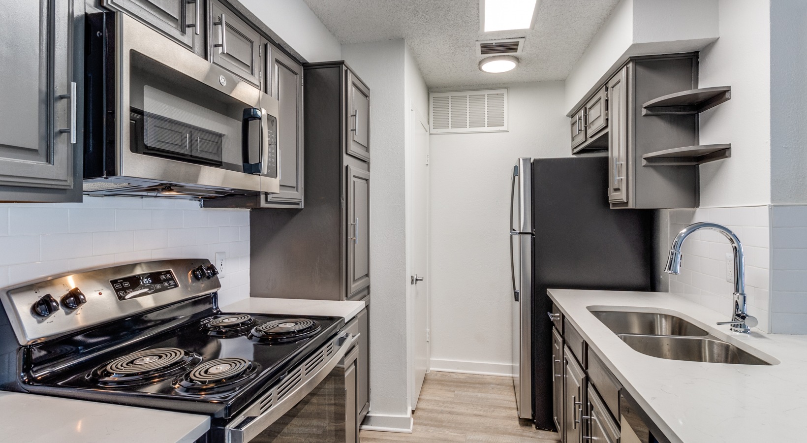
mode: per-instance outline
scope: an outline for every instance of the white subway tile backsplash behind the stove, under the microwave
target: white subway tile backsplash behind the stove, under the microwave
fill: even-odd
[[[249,297],[249,211],[198,202],[85,197],[0,204],[0,287],[86,268],[227,253],[220,303]]]

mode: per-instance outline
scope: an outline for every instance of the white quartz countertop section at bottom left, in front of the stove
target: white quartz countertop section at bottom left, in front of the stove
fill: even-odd
[[[0,441],[191,443],[208,428],[207,416],[0,391]]]

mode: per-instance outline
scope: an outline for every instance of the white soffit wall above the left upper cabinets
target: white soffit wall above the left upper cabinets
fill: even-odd
[[[240,2],[307,61],[341,60],[341,44],[303,0]]]

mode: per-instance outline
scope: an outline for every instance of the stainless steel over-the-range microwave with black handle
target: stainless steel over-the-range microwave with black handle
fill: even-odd
[[[85,194],[278,193],[278,100],[119,12],[87,15]]]

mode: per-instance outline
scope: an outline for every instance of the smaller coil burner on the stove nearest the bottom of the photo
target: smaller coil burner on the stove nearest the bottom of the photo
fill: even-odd
[[[186,372],[174,382],[174,387],[190,395],[230,392],[252,378],[259,368],[257,363],[244,358],[217,358]]]

